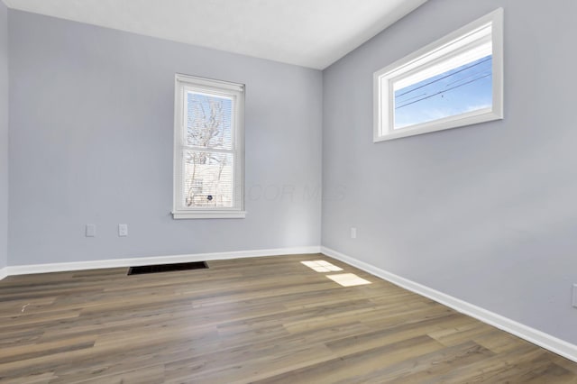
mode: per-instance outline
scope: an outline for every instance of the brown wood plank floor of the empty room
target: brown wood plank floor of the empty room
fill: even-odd
[[[0,281],[0,382],[577,382],[576,363],[323,255],[208,266]]]

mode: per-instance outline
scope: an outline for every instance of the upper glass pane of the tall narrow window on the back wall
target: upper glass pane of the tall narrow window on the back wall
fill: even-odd
[[[232,150],[233,100],[190,91],[186,95],[187,144]]]

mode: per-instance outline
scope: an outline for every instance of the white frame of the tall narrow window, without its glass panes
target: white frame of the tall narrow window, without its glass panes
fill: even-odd
[[[175,76],[174,95],[174,186],[172,217],[174,219],[244,218],[244,85],[210,78],[197,78],[183,74]],[[197,207],[184,206],[183,153],[186,144],[186,116],[184,103],[187,91],[206,92],[209,95],[234,99],[232,119],[233,149],[233,206]],[[211,150],[212,151],[212,150]]]

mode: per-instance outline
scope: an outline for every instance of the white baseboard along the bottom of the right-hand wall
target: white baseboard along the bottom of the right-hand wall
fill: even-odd
[[[527,340],[529,343],[534,343],[540,347],[545,348],[551,352],[557,353],[569,360],[577,361],[577,345],[572,343],[567,343],[551,334],[545,334],[544,332],[538,331],[530,326],[523,325],[511,320],[502,315],[498,315],[494,312],[490,312],[487,309],[481,308],[480,306],[472,305],[459,298],[452,297],[439,292],[433,288],[428,288],[424,285],[418,284],[415,281],[409,279],[401,278],[398,275],[390,273],[386,270],[381,270],[371,264],[364,261],[359,261],[353,257],[347,256],[339,251],[334,251],[330,248],[321,247],[321,252],[326,256],[330,256],[336,260],[343,261],[347,264],[353,265],[360,270],[371,273],[380,279],[385,279],[398,287],[405,288],[411,292],[415,292],[418,295],[428,297],[435,300],[438,303],[443,304],[453,308],[454,310],[461,312],[465,315],[470,315],[481,322],[488,325],[493,325],[509,334],[514,334],[517,337]]]

